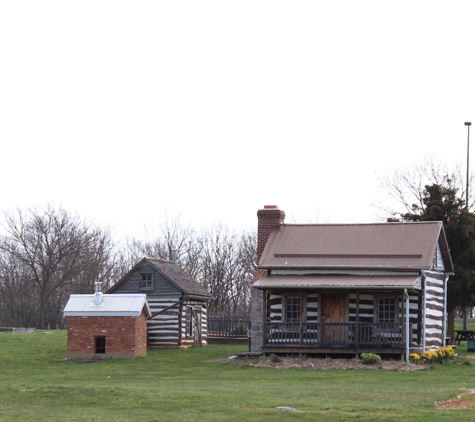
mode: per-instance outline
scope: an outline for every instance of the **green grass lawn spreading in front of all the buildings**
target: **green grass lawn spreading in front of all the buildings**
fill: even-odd
[[[0,333],[2,421],[454,421],[437,400],[475,389],[475,364],[425,371],[318,371],[224,364],[243,346],[68,361],[66,332]],[[459,356],[466,355],[464,343]],[[302,413],[279,412],[278,406]]]

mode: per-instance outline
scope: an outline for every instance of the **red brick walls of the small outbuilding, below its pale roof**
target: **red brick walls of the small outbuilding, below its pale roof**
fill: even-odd
[[[95,338],[106,338],[104,356],[95,354]],[[134,357],[147,354],[147,317],[68,317],[68,357]]]

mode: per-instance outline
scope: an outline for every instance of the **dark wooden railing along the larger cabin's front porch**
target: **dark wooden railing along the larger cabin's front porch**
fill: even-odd
[[[404,326],[400,323],[268,322],[265,345],[404,347],[406,344],[404,331]],[[409,332],[412,333],[412,324]]]

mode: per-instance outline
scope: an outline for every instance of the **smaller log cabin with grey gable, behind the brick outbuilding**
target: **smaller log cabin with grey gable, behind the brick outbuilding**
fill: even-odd
[[[176,262],[143,258],[107,293],[144,293],[151,310],[148,347],[206,346],[212,295]]]

